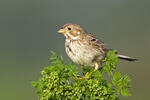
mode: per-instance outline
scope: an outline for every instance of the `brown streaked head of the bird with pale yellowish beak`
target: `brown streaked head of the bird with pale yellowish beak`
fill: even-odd
[[[58,33],[64,34],[66,39],[76,40],[85,33],[84,29],[77,24],[65,24]]]

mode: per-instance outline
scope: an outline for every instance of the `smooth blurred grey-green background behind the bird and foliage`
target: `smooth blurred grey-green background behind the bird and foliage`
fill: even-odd
[[[150,1],[1,0],[1,100],[38,100],[31,81],[38,80],[49,64],[49,51],[70,61],[65,37],[57,33],[69,22],[83,26],[121,54],[138,58],[138,62],[119,60],[122,74],[132,79],[132,96],[121,100],[149,99]]]

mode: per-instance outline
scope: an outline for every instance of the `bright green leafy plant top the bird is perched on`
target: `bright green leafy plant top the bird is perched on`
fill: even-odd
[[[89,71],[86,79],[79,79],[75,64],[65,64],[62,57],[52,52],[51,64],[42,70],[40,80],[33,82],[40,100],[119,100],[120,95],[129,96],[131,80],[116,71],[115,52],[108,53],[100,70],[83,68],[83,73]],[[109,75],[111,81],[104,75]]]

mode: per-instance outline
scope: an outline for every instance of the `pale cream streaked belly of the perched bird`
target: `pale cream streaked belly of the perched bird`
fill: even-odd
[[[71,45],[68,47],[66,46],[66,53],[76,64],[93,66],[95,54],[91,48]]]

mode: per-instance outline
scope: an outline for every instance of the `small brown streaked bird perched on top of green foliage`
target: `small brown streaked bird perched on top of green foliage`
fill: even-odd
[[[77,24],[66,24],[58,32],[66,37],[66,53],[76,64],[94,66],[97,70],[102,60],[107,57],[108,51],[112,50]],[[116,56],[127,61],[137,60],[118,53]]]

